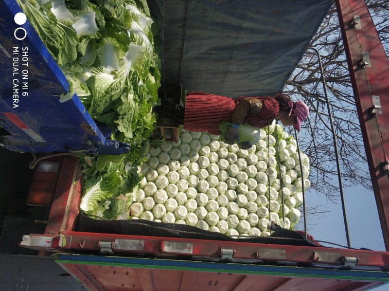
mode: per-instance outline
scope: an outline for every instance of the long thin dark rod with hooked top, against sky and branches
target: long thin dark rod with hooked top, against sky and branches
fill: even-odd
[[[320,58],[319,51],[317,49],[315,49],[315,48],[312,48],[312,47],[308,47],[308,49],[311,49],[311,50],[315,51],[316,55],[318,55],[319,68],[320,68],[320,72],[321,72],[321,81],[323,82],[324,95],[325,95],[325,100],[326,100],[327,109],[328,109],[328,118],[330,119],[332,138],[334,139],[334,150],[335,150],[336,167],[337,167],[337,178],[338,178],[338,181],[339,181],[340,200],[342,202],[343,220],[344,220],[344,228],[345,228],[345,231],[346,231],[347,247],[350,249],[351,245],[350,245],[349,227],[348,227],[348,223],[347,223],[346,206],[345,206],[345,202],[344,202],[342,176],[341,176],[341,172],[340,172],[340,163],[339,163],[339,154],[338,154],[338,150],[337,150],[334,122],[333,122],[333,119],[332,119],[330,102],[328,100],[327,86],[326,86],[326,82],[325,82],[323,66],[321,64],[321,58]]]

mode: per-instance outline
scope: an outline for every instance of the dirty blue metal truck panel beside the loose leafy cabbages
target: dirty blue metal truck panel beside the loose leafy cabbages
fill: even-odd
[[[61,100],[69,83],[29,20],[15,22],[20,12],[15,0],[0,2],[0,144],[23,152],[128,152],[106,140],[110,128],[102,132],[76,94]]]

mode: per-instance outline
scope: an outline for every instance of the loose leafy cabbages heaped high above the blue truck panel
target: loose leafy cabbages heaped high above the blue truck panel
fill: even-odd
[[[160,73],[145,0],[18,0],[23,12],[97,121],[117,140],[153,130]],[[67,98],[67,96],[63,96]]]

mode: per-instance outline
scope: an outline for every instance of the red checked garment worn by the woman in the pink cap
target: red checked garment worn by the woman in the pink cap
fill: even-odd
[[[206,131],[220,135],[219,124],[222,121],[231,122],[232,111],[240,100],[204,92],[189,92],[185,101],[184,129],[190,131]],[[269,96],[256,97],[263,105],[258,114],[249,114],[244,123],[262,128],[270,125],[276,118],[280,108],[278,102]]]

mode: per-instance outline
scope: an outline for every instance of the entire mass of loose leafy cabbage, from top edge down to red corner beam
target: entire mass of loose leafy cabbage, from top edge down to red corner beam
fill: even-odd
[[[159,59],[146,0],[17,0],[93,119],[129,143],[122,156],[82,156],[82,209],[112,219],[132,202],[159,102]],[[126,167],[124,166],[126,165]],[[98,204],[104,200],[105,204]]]

